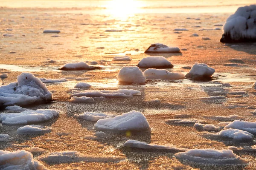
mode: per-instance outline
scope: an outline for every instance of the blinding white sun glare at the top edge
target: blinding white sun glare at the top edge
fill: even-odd
[[[106,5],[106,8],[108,14],[120,20],[125,20],[129,16],[138,13],[141,6],[141,1],[137,0],[111,0]]]

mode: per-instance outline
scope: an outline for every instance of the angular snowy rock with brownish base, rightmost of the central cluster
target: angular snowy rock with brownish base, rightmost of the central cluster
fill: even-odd
[[[202,64],[195,62],[186,78],[190,79],[209,79],[212,77],[212,74],[215,72],[214,68],[209,67],[207,64]]]

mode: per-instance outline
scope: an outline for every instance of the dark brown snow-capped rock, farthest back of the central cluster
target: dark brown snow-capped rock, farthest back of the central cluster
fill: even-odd
[[[181,53],[180,48],[168,47],[167,45],[156,43],[151,44],[145,53]]]

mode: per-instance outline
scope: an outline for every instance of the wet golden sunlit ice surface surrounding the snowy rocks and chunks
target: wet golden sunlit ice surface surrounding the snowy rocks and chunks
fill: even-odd
[[[48,130],[49,133],[31,134],[32,131],[30,131],[30,134],[18,134],[17,129],[22,126],[2,125],[1,133],[8,135],[9,138],[4,137],[6,141],[0,143],[0,149],[14,151],[27,150],[31,147],[42,148],[45,152],[39,152],[40,149],[28,150],[34,151],[34,158],[49,169],[66,167],[70,169],[74,167],[85,169],[116,167],[119,169],[124,167],[126,169],[175,169],[177,167],[255,169],[255,153],[248,151],[256,144],[254,136],[242,133],[248,138],[243,142],[234,140],[239,136],[238,134],[241,134],[239,132],[228,133],[230,138],[216,136],[229,124],[227,121],[255,121],[253,112],[256,109],[255,90],[251,88],[256,81],[256,60],[254,59],[255,50],[253,50],[255,44],[220,44],[219,38],[222,31],[215,29],[216,26],[224,24],[227,17],[234,11],[230,14],[148,14],[147,16],[135,14],[127,20],[104,14],[87,14],[84,13],[87,10],[80,9],[58,9],[57,11],[42,9],[38,12],[32,10],[31,13],[25,11],[22,9],[17,12],[5,8],[0,13],[2,18],[0,21],[4,23],[0,26],[2,30],[12,26],[12,31],[3,31],[1,34],[6,35],[1,39],[0,44],[2,54],[0,71],[1,75],[7,73],[9,76],[2,79],[3,85],[15,82],[20,72],[32,72],[36,77],[45,77],[46,80],[48,79],[49,83],[45,83],[53,94],[54,102],[24,106],[23,109],[29,108],[32,111],[57,109],[62,114],[47,122],[36,124],[33,122],[38,126],[51,127],[52,130],[50,132]],[[192,19],[185,20],[187,17]],[[31,21],[35,21],[35,24],[31,25]],[[18,26],[20,22],[24,23],[24,27]],[[40,24],[42,29],[38,28],[37,24]],[[180,28],[179,34],[172,34],[175,28]],[[45,29],[61,32],[58,36],[56,33],[43,34]],[[200,29],[202,31],[199,31]],[[190,37],[192,34],[198,34],[199,37]],[[202,37],[208,37],[210,40],[201,40]],[[174,65],[174,68],[167,68],[167,71],[186,75],[195,62],[206,63],[216,71],[212,79],[195,81],[154,78],[146,79],[142,84],[120,83],[116,76],[121,68],[136,66],[143,58],[151,56],[144,54],[144,51],[157,42],[186,49],[186,51],[182,50],[182,54],[151,54],[163,56]],[[131,61],[112,61],[115,56],[128,56]],[[59,70],[66,63],[73,62],[85,62],[102,69]],[[144,73],[145,69],[142,68],[141,71]],[[61,79],[68,81],[61,82]],[[55,83],[56,81],[61,83]],[[81,98],[76,99],[79,102],[68,102],[72,90],[76,93],[84,93],[86,90],[74,89],[80,82],[90,84],[92,91],[131,89],[140,91],[141,95],[105,99],[95,96],[90,99],[90,101],[93,99],[93,102],[84,102],[83,100],[86,99]],[[11,108],[1,112],[11,114],[23,111],[18,109],[21,108]],[[132,110],[140,111],[145,115],[151,127],[151,133],[95,131],[96,122],[74,116],[82,115],[84,112],[116,116]],[[175,120],[166,123],[168,119]],[[197,122],[195,120],[199,120],[208,132],[203,132],[205,134],[202,135],[200,130],[193,127]],[[232,128],[238,127],[232,126]],[[242,130],[246,131],[247,128],[244,126]],[[253,130],[255,130],[254,126]],[[247,148],[247,150],[234,151],[241,158],[236,156],[234,159],[227,158],[226,162],[218,167],[216,164],[211,165],[211,161],[216,160],[202,163],[196,160],[176,159],[172,152],[161,152],[155,149],[131,150],[123,147],[122,144],[129,139],[157,146],[173,144],[177,148],[186,149],[223,150],[234,146]],[[61,153],[65,150],[74,150],[77,153],[67,154],[65,157],[63,156],[65,154]],[[51,153],[54,154],[51,155]],[[200,154],[203,159],[207,157],[207,154],[202,152]],[[51,159],[53,158],[51,156],[55,159]],[[113,156],[125,157],[126,161],[112,159]],[[64,157],[67,158],[66,162],[61,162]],[[185,157],[187,158],[187,155]],[[84,161],[88,158],[91,161]],[[75,161],[70,161],[72,159]],[[95,159],[100,162],[95,162]],[[217,159],[223,159],[221,154]],[[233,163],[233,160],[241,163],[241,159],[250,164],[227,165],[227,163]],[[104,160],[109,160],[111,164],[104,163]]]

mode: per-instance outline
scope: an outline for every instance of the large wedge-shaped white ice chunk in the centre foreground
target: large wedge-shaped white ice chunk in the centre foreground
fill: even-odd
[[[123,113],[114,118],[100,119],[94,128],[102,131],[151,131],[146,117],[137,111]]]

